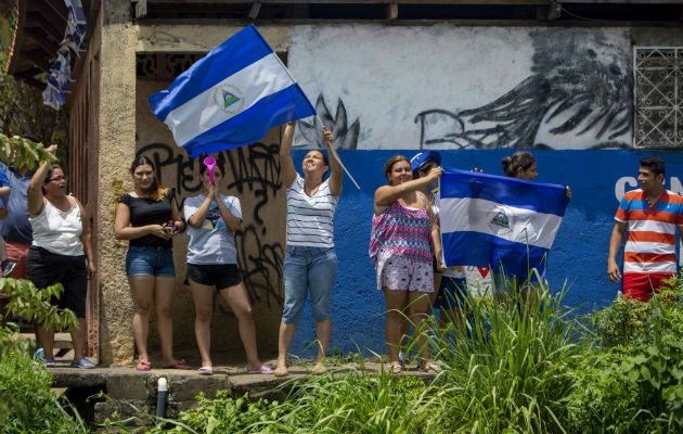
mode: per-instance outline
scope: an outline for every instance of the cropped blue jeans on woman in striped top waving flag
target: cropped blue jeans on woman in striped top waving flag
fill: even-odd
[[[330,319],[330,298],[336,276],[337,255],[334,247],[288,245],[284,260],[285,301],[282,322],[299,322],[308,291],[311,293],[313,319]]]

